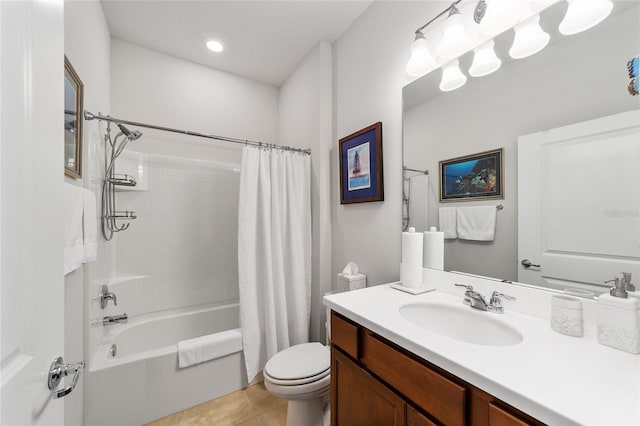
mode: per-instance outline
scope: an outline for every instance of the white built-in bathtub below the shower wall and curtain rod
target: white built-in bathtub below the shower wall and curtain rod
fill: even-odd
[[[246,387],[242,351],[178,368],[179,341],[234,330],[226,334],[239,339],[241,347],[238,326],[238,303],[144,315],[109,326],[85,376],[84,423],[138,426]]]

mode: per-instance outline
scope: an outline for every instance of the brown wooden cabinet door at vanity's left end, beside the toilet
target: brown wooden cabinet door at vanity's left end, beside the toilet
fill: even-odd
[[[331,349],[332,426],[404,426],[406,405],[339,350]]]

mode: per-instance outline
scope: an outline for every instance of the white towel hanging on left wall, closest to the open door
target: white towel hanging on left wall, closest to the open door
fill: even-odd
[[[64,185],[64,274],[75,271],[84,258],[82,212],[84,198],[82,188]]]

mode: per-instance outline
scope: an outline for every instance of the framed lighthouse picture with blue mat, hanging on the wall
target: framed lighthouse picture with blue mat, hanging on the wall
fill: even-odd
[[[340,139],[340,204],[384,201],[382,123]]]

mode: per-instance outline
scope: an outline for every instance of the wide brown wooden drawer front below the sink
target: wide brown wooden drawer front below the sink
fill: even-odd
[[[368,332],[362,336],[362,364],[439,422],[466,424],[467,389],[389,346]]]

